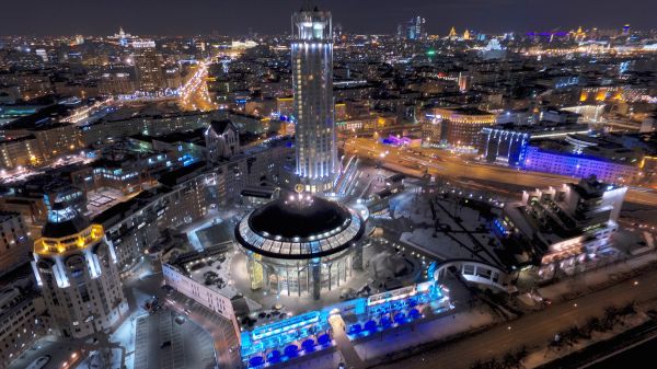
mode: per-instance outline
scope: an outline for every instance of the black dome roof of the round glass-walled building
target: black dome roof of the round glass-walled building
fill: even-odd
[[[256,209],[249,217],[251,229],[258,234],[283,239],[307,239],[344,226],[351,218],[345,207],[319,197],[277,199]]]

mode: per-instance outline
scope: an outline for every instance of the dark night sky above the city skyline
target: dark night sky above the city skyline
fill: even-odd
[[[1,35],[244,35],[289,31],[302,0],[2,0]],[[348,33],[392,34],[413,15],[430,34],[657,26],[656,0],[319,0]]]

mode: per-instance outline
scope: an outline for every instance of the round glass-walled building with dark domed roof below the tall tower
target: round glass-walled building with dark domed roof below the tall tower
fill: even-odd
[[[268,203],[235,227],[252,289],[314,299],[362,269],[364,233],[365,221],[354,210],[303,194]]]

